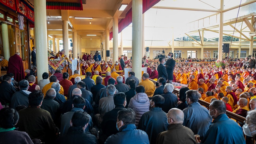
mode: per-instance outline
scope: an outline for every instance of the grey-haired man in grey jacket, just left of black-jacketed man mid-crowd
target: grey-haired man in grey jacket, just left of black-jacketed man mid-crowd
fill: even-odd
[[[101,98],[99,101],[99,113],[100,114],[95,115],[95,118],[98,120],[97,122],[99,125],[102,122],[102,118],[103,118],[104,114],[115,108],[114,99],[113,99],[115,92],[116,92],[115,86],[109,85],[107,87],[108,96]]]

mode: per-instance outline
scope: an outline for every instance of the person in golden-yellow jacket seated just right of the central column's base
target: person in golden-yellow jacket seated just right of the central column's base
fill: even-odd
[[[148,73],[143,73],[142,75],[143,82],[140,82],[139,86],[143,86],[145,88],[145,93],[147,94],[147,96],[152,97],[156,87],[155,87],[155,84],[148,78],[149,78]]]

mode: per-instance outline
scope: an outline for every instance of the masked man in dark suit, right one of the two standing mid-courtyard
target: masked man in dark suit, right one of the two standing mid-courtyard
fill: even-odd
[[[166,61],[166,71],[168,74],[168,83],[172,84],[172,80],[173,80],[173,69],[175,67],[175,60],[173,59],[173,53],[169,53],[168,54],[168,60]]]

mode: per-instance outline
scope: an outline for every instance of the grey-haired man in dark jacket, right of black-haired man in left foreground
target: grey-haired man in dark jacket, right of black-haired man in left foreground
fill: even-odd
[[[56,123],[60,118],[60,105],[58,102],[53,100],[55,97],[55,89],[50,88],[47,90],[41,108],[47,110],[51,114],[53,121]]]

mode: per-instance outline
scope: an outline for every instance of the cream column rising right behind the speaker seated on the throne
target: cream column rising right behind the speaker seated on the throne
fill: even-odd
[[[62,35],[63,35],[63,49],[66,51],[65,55],[69,56],[69,32],[68,21],[62,20]]]

